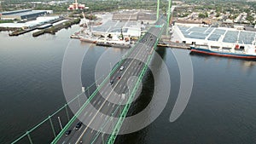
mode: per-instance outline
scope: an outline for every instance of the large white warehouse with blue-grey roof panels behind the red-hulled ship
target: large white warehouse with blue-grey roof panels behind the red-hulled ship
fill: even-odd
[[[227,27],[201,27],[195,25],[172,26],[172,43],[211,45],[232,48],[234,44],[253,44],[256,32]]]

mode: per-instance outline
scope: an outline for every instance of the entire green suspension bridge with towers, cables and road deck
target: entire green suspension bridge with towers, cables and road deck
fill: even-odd
[[[171,3],[169,3],[169,8],[171,8]],[[99,85],[94,83],[86,89],[83,88],[79,95],[76,95],[31,130],[26,131],[12,144],[24,143],[22,141],[33,144],[31,135],[43,124],[50,126],[53,139],[49,143],[52,144],[77,144],[80,142],[113,144],[131,103],[137,95],[143,76],[148,70],[156,45],[163,32],[166,32],[166,27],[169,26],[167,24],[169,24],[170,13],[171,9],[168,10],[167,18],[157,16],[154,26],[151,26],[148,32],[140,37],[136,45],[122,57],[122,60],[119,60],[108,76],[96,79],[96,82],[101,82]],[[157,15],[159,15],[159,5]],[[135,76],[137,79],[130,79],[131,81],[128,82],[131,76]],[[127,83],[130,85],[128,86]],[[90,93],[92,91],[93,93]],[[71,104],[78,105],[78,110],[73,115],[70,114],[68,108]],[[64,112],[67,116],[67,123],[64,127],[57,115],[58,112]],[[56,120],[53,120],[56,118],[61,129],[56,129],[56,122],[54,122]]]

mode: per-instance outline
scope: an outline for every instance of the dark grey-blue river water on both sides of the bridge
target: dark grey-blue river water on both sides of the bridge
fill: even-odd
[[[14,141],[66,102],[61,65],[67,47],[88,50],[82,65],[84,85],[94,82],[96,62],[107,49],[112,57],[120,57],[128,50],[70,40],[78,29],[73,26],[40,37],[32,37],[32,33],[8,37],[7,32],[0,32],[0,143]],[[169,121],[177,100],[180,72],[173,49],[160,48],[157,51],[166,63],[172,84],[166,107],[152,124],[119,135],[116,143],[254,143],[256,61],[189,55],[188,50],[177,50],[192,60],[194,69],[193,90],[184,112],[176,121]],[[152,76],[145,77],[144,84],[150,89]],[[139,97],[131,111],[148,105],[148,93]]]

